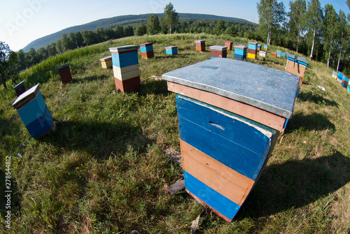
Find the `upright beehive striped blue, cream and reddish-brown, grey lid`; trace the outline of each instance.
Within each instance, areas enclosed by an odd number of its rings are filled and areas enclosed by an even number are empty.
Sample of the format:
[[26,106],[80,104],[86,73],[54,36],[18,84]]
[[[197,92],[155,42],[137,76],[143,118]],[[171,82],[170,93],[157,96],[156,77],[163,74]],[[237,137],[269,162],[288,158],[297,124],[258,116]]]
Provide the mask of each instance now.
[[113,75],[116,88],[125,92],[136,91],[141,87],[139,73],[139,45],[110,47],[112,54]]

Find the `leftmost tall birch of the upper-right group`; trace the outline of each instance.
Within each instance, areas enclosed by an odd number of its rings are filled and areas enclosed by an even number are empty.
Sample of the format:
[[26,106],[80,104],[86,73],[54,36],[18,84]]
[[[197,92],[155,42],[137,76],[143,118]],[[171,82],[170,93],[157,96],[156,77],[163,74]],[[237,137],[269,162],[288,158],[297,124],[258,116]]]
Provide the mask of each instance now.
[[286,19],[283,2],[278,3],[276,0],[260,0],[257,3],[259,14],[259,27],[261,31],[267,33],[267,45],[271,43],[271,35],[274,29]]

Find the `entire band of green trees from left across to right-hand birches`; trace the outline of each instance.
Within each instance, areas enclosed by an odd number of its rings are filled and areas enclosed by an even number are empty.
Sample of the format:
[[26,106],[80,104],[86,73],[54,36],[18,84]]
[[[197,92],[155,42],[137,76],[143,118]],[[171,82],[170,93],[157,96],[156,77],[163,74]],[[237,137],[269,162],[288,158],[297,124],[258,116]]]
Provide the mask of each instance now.
[[[347,1],[349,3],[350,0]],[[289,8],[288,11],[286,8]],[[259,24],[243,20],[179,18],[179,13],[172,6],[170,13],[174,13],[175,18],[170,28],[165,9],[162,17],[153,14],[148,20],[132,20],[116,27],[64,33],[59,40],[46,47],[38,50],[31,48],[29,52],[16,52],[17,62],[11,66],[8,75],[14,76],[48,57],[79,47],[127,36],[176,33],[227,34],[248,38],[251,41],[288,48],[304,54],[308,59],[324,62],[328,67],[348,74],[350,17],[342,10],[337,13],[332,4],[322,7],[318,0],[290,1],[289,6],[276,0],[260,0],[257,10]]]

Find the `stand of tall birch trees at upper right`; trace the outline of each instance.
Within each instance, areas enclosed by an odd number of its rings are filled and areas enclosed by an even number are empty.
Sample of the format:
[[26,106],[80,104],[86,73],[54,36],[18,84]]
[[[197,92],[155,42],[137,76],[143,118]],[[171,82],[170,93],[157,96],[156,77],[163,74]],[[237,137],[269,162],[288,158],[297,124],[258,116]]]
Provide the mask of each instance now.
[[[350,0],[346,3],[350,8]],[[350,15],[343,10],[337,13],[332,4],[323,8],[318,0],[290,1],[288,12],[276,0],[260,0],[257,8],[258,33],[267,44],[300,52],[337,71],[349,65]]]

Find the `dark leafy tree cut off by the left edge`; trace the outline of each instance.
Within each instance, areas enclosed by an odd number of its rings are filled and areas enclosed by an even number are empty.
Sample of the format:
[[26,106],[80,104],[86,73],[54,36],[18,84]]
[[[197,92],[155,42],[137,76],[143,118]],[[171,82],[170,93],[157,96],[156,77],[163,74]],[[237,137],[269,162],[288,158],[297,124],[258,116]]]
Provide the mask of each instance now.
[[5,42],[0,41],[0,80],[5,89],[7,89],[6,81],[16,63],[17,54],[10,50],[10,47]]

